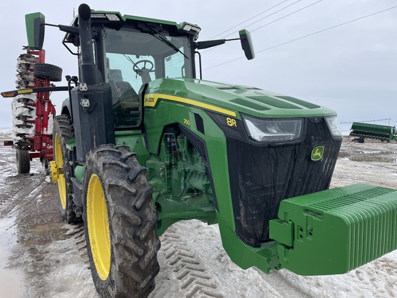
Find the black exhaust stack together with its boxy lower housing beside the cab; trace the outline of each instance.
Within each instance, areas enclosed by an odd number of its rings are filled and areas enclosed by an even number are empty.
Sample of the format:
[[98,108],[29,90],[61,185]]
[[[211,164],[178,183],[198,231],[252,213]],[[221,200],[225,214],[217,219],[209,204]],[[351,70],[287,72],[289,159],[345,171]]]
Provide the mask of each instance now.
[[[79,37],[81,47],[79,87],[70,91],[73,126],[76,139],[77,163],[83,164],[91,148],[114,140],[114,116],[112,87],[99,81],[98,68],[94,63],[92,45],[91,9],[87,4],[79,6]],[[101,59],[101,58],[99,58]],[[76,182],[77,183],[77,182]],[[74,187],[75,193],[81,193],[81,186]]]

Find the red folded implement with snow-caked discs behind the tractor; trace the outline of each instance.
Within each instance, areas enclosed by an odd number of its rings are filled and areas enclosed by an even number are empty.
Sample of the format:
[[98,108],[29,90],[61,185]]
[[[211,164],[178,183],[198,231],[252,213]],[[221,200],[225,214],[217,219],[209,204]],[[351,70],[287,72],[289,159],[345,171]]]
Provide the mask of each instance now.
[[47,169],[53,159],[52,124],[55,108],[50,100],[50,92],[41,89],[32,93],[32,88],[52,86],[50,81],[61,81],[62,70],[44,63],[45,50],[25,48],[26,53],[17,59],[17,88],[4,97],[12,100],[12,140],[4,141],[4,146],[17,150],[19,174],[30,171],[30,161],[39,158]]

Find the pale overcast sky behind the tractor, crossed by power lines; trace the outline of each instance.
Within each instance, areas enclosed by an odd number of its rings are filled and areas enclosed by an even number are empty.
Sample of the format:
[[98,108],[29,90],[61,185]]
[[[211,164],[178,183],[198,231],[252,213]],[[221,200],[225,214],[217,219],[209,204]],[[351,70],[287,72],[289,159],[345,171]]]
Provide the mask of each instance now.
[[[39,11],[46,23],[69,25],[80,3],[1,3],[6,13],[0,31],[0,91],[15,88],[17,57],[27,45],[24,15]],[[311,101],[336,110],[341,122],[391,118],[376,123],[397,124],[397,8],[387,10],[397,6],[396,0],[152,0],[150,6],[148,1],[86,3],[95,10],[196,23],[201,26],[201,41],[229,34],[227,38],[238,37],[237,31],[247,28],[252,32],[256,58],[238,59],[243,51],[236,41],[203,50],[203,79],[255,86]],[[374,14],[382,10],[387,11]],[[374,15],[365,17],[369,14]],[[365,18],[325,30],[361,17]],[[225,32],[230,28],[234,29]],[[320,30],[325,31],[305,37]],[[46,27],[45,35],[45,61],[63,68],[63,76],[77,75],[76,57],[61,44],[63,32]],[[305,38],[292,41],[300,37]],[[288,41],[292,42],[278,46]],[[63,80],[57,86],[65,84]],[[58,108],[65,97],[65,92],[52,94]],[[0,127],[11,127],[11,99],[0,100]],[[349,126],[344,124],[343,129]]]

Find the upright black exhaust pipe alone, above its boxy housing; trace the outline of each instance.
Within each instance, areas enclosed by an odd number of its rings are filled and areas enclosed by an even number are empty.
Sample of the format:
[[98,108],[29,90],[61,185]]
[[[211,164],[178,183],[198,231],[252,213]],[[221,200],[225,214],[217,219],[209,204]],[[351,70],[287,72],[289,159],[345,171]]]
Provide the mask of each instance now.
[[98,83],[98,72],[94,64],[92,49],[91,8],[87,4],[79,6],[79,32],[81,47],[81,81],[87,85]]

